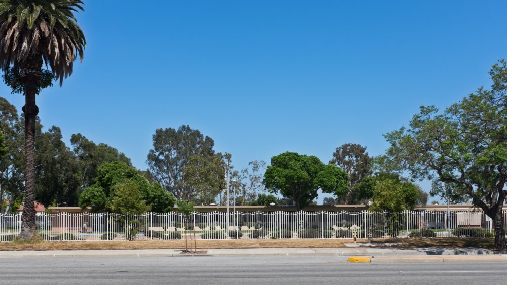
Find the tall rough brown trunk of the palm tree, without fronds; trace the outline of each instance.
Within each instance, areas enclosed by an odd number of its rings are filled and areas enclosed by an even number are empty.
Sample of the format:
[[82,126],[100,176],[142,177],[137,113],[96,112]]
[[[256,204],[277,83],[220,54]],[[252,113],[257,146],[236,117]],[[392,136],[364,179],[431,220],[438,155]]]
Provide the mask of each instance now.
[[31,54],[20,65],[20,77],[25,86],[25,203],[22,217],[20,240],[37,236],[35,224],[35,119],[39,108],[35,105],[35,94],[42,78],[42,56]]

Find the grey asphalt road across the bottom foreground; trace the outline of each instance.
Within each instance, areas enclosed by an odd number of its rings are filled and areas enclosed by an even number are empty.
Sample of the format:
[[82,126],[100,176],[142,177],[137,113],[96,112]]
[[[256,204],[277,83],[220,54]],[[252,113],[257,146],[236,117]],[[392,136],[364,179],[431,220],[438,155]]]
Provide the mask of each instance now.
[[0,284],[488,284],[505,263],[346,263],[341,256],[4,258]]

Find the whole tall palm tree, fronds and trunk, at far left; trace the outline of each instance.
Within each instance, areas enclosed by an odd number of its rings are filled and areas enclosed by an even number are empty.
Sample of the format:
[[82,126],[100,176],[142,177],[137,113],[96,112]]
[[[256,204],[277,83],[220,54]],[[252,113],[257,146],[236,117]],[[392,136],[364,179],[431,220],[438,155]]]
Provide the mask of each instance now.
[[[37,235],[35,226],[35,118],[39,108],[35,94],[44,83],[49,65],[52,77],[72,74],[77,55],[83,60],[86,40],[73,13],[83,11],[81,0],[0,0],[0,68],[14,74],[13,90],[25,95],[25,203],[20,240]],[[12,76],[11,76],[12,77]]]

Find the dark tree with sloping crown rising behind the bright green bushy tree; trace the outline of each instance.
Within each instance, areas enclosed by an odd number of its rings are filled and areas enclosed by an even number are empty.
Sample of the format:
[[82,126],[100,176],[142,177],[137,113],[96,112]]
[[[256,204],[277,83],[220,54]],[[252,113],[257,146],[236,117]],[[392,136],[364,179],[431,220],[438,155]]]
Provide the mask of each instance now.
[[94,183],[98,175],[98,169],[102,164],[123,162],[128,166],[132,166],[130,159],[116,148],[104,143],[97,145],[81,134],[73,134],[70,138],[70,143],[78,160],[82,187],[87,187]]

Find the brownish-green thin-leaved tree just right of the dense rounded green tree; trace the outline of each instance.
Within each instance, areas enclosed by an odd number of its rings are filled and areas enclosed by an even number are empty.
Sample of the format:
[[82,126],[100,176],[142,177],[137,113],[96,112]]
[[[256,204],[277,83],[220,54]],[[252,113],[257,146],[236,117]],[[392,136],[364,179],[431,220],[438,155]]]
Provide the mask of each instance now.
[[353,143],[337,147],[329,163],[340,167],[348,175],[347,193],[345,197],[340,197],[344,205],[359,203],[356,185],[364,177],[372,174],[372,157],[366,152],[366,147]]

